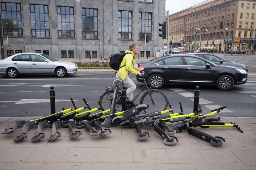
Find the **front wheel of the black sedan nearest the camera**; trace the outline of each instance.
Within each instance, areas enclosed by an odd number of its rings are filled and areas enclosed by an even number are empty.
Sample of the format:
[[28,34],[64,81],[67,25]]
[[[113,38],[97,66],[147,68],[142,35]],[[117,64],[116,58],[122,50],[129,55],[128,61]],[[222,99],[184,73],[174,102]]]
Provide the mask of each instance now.
[[218,89],[227,91],[233,87],[234,80],[230,75],[222,75],[217,79],[216,85]]

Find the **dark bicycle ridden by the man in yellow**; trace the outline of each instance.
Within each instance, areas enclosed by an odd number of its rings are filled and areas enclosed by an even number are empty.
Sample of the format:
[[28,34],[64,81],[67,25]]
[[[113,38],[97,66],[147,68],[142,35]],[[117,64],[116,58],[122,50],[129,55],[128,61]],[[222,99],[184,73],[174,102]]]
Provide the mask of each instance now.
[[[140,99],[140,104],[141,105],[142,104],[149,105],[149,107],[147,109],[145,109],[144,112],[152,113],[152,112],[155,112],[155,111],[164,111],[164,110],[166,110],[166,108],[168,106],[167,97],[161,91],[158,91],[156,89],[151,89],[149,83],[146,82],[144,76],[146,76],[146,74],[142,72],[143,83],[136,86],[136,88],[141,87],[141,89],[139,90],[137,95],[135,95],[133,100],[126,101],[127,106],[129,108],[134,107],[133,102],[138,98],[140,93],[142,91],[144,91],[144,94],[142,95],[142,97]],[[105,88],[106,92],[103,93],[102,95],[100,95],[100,102],[101,102],[101,105],[103,106],[103,108],[111,108],[112,101],[113,101],[113,96],[114,96],[114,89],[115,89],[117,84],[123,84],[122,82],[121,83],[120,82],[121,81],[118,80],[118,79],[115,80],[113,82],[114,87],[106,87]],[[121,87],[119,86],[117,99],[119,97],[121,97],[122,87],[123,87],[123,85],[121,85]],[[121,104],[116,104],[116,107],[122,107],[122,105]]]

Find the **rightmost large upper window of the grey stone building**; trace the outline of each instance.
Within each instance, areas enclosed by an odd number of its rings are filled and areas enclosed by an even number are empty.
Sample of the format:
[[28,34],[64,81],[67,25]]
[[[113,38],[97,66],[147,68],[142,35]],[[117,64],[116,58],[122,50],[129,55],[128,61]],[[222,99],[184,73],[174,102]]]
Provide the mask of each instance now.
[[145,34],[151,40],[151,25],[152,25],[151,13],[139,13],[139,39],[145,39]]

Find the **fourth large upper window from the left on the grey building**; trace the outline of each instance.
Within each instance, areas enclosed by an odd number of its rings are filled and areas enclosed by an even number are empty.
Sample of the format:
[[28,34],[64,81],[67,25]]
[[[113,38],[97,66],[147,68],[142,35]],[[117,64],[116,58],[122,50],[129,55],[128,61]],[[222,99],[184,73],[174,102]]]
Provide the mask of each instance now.
[[82,8],[82,29],[84,39],[98,39],[97,9]]

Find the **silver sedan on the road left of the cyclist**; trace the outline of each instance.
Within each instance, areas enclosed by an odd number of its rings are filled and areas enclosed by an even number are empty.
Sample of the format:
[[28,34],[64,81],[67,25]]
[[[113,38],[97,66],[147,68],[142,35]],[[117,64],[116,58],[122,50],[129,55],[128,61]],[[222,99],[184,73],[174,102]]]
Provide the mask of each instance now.
[[16,78],[20,74],[55,74],[65,77],[77,72],[77,64],[56,60],[43,53],[18,53],[0,60],[0,74]]

